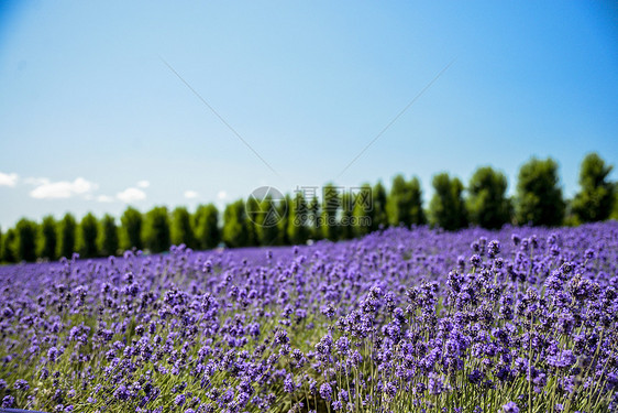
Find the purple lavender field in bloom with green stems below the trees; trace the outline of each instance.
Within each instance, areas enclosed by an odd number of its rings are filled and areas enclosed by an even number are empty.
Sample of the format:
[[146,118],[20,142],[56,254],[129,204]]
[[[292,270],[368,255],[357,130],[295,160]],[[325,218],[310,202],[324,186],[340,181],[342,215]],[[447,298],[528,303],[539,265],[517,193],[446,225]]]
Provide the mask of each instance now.
[[0,268],[0,399],[44,412],[609,412],[618,224]]

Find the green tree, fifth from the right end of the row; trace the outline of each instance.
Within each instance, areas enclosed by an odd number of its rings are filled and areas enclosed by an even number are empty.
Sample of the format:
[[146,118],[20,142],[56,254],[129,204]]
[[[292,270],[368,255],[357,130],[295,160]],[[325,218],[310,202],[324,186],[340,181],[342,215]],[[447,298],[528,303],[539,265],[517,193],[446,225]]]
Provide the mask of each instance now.
[[395,176],[386,200],[386,213],[391,226],[402,224],[409,227],[412,224],[426,224],[422,191],[416,176],[410,182],[406,182],[401,175]]

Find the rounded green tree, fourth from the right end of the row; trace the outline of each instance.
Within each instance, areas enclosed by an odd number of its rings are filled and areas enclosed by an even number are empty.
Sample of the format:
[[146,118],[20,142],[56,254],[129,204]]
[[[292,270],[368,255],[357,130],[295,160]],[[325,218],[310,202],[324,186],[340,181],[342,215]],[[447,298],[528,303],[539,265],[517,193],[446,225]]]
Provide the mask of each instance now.
[[453,231],[467,226],[466,210],[462,198],[463,184],[448,173],[433,176],[434,194],[429,205],[431,224]]

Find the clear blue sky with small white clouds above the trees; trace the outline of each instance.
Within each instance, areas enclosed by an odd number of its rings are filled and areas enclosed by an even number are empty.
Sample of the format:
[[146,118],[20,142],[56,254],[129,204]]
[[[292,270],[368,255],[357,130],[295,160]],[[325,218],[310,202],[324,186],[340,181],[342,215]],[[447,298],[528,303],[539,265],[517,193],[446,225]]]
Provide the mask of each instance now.
[[0,226],[397,173],[429,199],[487,164],[512,192],[532,155],[572,196],[587,152],[618,163],[610,4],[2,2]]

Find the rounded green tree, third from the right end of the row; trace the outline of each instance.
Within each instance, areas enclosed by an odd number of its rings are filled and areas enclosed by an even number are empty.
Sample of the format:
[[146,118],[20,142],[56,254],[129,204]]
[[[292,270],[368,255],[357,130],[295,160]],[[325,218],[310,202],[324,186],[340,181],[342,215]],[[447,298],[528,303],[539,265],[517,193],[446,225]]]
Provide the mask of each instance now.
[[483,228],[501,228],[510,220],[510,203],[506,197],[507,178],[492,166],[477,169],[470,180],[466,206],[472,224]]

